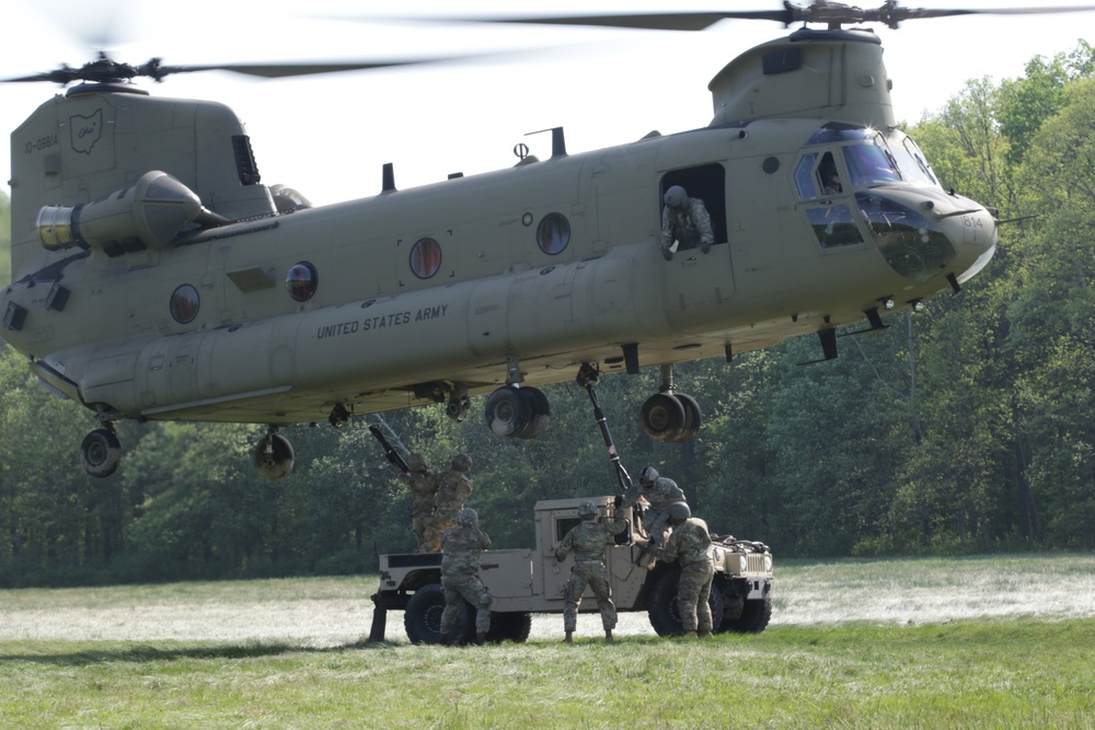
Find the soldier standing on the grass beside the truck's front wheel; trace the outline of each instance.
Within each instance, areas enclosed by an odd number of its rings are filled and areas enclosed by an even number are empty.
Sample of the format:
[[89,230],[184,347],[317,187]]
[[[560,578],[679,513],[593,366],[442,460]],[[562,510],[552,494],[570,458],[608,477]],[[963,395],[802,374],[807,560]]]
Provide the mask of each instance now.
[[673,532],[657,556],[662,560],[677,560],[681,565],[681,579],[677,586],[677,610],[680,612],[684,636],[711,636],[711,581],[715,576],[712,563],[711,534],[707,523],[692,517],[684,502],[669,508],[669,522]]

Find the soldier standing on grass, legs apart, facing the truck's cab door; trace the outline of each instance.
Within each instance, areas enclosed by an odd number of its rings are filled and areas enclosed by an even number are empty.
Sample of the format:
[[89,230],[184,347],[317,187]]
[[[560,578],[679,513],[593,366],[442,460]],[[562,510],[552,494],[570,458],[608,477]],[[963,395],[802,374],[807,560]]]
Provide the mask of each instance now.
[[597,506],[586,501],[578,505],[578,517],[581,522],[570,528],[563,542],[555,548],[555,559],[562,563],[574,552],[574,567],[570,578],[566,581],[566,605],[563,609],[564,641],[574,641],[574,629],[578,622],[578,606],[581,604],[581,593],[588,583],[593,589],[597,607],[601,612],[601,624],[604,626],[604,640],[612,640],[612,629],[615,628],[615,605],[609,598],[609,573],[604,567],[604,546],[613,542],[613,536],[627,529],[622,518],[621,506],[612,510],[612,519],[607,522],[597,520]]

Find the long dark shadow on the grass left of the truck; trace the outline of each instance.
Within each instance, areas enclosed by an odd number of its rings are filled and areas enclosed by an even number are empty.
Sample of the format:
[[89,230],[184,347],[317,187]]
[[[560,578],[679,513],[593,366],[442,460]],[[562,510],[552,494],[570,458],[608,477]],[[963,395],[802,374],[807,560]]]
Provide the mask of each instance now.
[[378,650],[393,645],[387,641],[355,641],[341,647],[302,647],[291,644],[230,644],[222,646],[194,646],[175,649],[160,649],[141,645],[118,649],[85,649],[66,653],[0,653],[0,663],[27,662],[32,664],[55,664],[57,667],[85,667],[111,662],[145,663],[152,661],[177,661],[181,659],[255,659],[288,653],[337,653],[347,650]]

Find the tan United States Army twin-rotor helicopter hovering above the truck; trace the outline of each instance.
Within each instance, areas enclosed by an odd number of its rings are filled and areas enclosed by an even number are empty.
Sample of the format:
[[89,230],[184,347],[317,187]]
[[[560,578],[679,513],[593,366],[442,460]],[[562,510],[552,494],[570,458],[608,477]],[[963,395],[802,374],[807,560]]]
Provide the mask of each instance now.
[[[710,83],[704,127],[313,207],[261,182],[227,106],[131,83],[182,71],[258,76],[383,66],[143,66],[103,56],[9,81],[80,82],[11,136],[12,283],[2,336],[95,413],[90,474],[122,457],[119,419],[254,422],[267,478],[293,452],[278,429],[489,394],[488,426],[533,438],[537,385],[661,369],[648,436],[693,438],[700,406],[676,362],[837,329],[958,290],[991,258],[994,211],[948,193],[894,118],[883,48],[858,23],[1022,11],[781,10],[488,19],[701,30],[761,19],[789,36]],[[1074,9],[1068,9],[1074,10]],[[825,24],[823,28],[810,24]],[[840,183],[834,181],[839,177]],[[670,188],[700,198],[712,237],[662,246]]]

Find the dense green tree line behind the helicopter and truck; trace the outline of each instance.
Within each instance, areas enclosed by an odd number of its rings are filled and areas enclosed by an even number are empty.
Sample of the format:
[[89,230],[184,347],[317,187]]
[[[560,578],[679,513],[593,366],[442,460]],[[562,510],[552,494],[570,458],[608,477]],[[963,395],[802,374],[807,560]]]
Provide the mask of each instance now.
[[[817,357],[797,338],[678,366],[704,408],[689,443],[638,428],[656,369],[602,379],[629,471],[656,466],[717,532],[781,557],[1095,548],[1093,72],[1081,43],[907,125],[944,187],[1001,220],[1037,216],[1001,225],[961,292],[842,338],[835,361],[797,367]],[[460,425],[429,407],[289,429],[297,465],[277,483],[251,466],[260,427],[126,421],[122,468],[94,479],[79,464],[90,413],[0,346],[0,586],[367,571],[414,546],[410,495],[369,425],[436,471],[469,453],[469,505],[497,546],[529,546],[538,499],[616,488],[585,390],[544,390],[552,425],[531,441],[492,436],[482,398]]]

